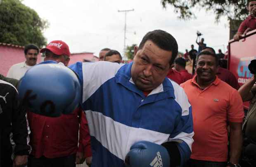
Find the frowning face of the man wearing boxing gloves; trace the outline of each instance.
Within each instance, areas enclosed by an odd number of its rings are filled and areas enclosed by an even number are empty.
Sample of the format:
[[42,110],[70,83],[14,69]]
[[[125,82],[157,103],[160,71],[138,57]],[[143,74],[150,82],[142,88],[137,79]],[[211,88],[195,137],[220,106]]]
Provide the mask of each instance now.
[[133,82],[142,91],[150,91],[158,87],[166,77],[172,52],[156,46],[147,40],[142,49],[134,48],[131,75]]

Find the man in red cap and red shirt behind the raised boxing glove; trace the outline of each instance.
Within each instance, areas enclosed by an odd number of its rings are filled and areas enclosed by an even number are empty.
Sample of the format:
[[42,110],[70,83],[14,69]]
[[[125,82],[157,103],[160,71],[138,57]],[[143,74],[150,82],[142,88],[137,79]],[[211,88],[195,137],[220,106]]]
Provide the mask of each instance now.
[[[69,64],[69,46],[61,40],[50,42],[40,52],[45,54],[45,61],[57,61],[65,66]],[[85,158],[91,159],[88,124],[81,108],[56,118],[28,112],[28,121],[32,146],[29,166],[75,167],[83,163]]]

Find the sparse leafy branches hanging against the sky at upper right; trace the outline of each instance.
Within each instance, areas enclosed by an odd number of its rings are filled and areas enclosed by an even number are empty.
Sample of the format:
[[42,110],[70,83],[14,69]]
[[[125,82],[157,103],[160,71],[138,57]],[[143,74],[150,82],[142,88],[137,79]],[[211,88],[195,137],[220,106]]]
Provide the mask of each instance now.
[[228,19],[244,20],[248,15],[247,11],[248,0],[161,0],[164,8],[167,5],[174,7],[174,12],[179,14],[180,19],[188,20],[195,18],[192,12],[194,8],[213,11],[216,15],[216,21],[220,17],[228,16]]

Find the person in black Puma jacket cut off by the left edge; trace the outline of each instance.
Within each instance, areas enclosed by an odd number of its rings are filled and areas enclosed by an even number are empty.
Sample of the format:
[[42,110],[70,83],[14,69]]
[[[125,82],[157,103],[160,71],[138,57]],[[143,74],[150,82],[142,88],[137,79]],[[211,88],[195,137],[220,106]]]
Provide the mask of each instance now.
[[17,89],[12,84],[0,80],[0,167],[26,165],[31,150],[28,146],[26,112],[19,107],[17,96]]

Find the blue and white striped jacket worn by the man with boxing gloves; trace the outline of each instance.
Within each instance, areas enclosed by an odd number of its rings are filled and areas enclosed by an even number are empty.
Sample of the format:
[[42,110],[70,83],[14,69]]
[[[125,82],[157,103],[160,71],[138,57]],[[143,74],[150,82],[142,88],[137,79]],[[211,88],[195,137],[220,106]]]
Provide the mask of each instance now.
[[81,104],[90,129],[93,167],[124,167],[130,146],[142,140],[181,141],[183,163],[190,157],[194,135],[187,95],[165,78],[146,97],[131,78],[132,64],[100,61],[70,66],[83,89]]

